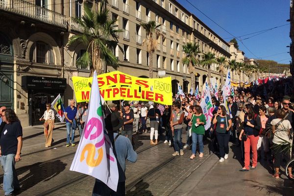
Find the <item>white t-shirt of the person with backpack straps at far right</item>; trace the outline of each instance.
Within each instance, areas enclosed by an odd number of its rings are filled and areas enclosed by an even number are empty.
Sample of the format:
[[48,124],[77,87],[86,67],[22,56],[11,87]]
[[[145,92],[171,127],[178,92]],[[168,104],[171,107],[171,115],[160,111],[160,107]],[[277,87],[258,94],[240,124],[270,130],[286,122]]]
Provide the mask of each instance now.
[[[270,122],[270,124],[271,125],[276,125],[280,121],[281,121],[281,119],[274,119],[274,120],[272,120]],[[290,142],[289,141],[289,135],[288,135],[289,132],[288,131],[291,128],[292,128],[291,123],[288,120],[284,120],[282,123],[280,123],[280,125],[275,128],[272,143],[274,143],[274,144],[285,143],[284,140],[286,140],[287,142]]]

